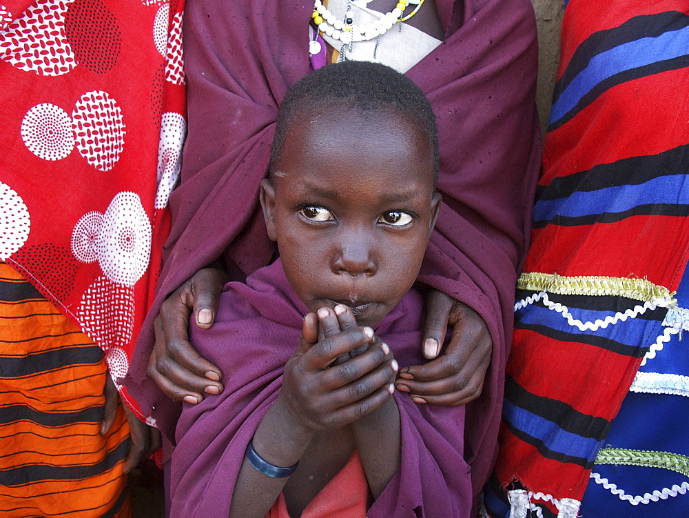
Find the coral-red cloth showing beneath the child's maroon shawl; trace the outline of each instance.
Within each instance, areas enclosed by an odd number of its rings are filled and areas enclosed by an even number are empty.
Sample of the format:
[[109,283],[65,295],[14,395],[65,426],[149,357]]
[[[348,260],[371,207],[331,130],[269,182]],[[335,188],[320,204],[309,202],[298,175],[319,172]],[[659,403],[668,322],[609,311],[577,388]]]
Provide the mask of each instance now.
[[[302,518],[364,518],[368,508],[369,483],[359,452],[354,450],[338,472],[302,512]],[[285,495],[278,496],[266,518],[290,518]]]

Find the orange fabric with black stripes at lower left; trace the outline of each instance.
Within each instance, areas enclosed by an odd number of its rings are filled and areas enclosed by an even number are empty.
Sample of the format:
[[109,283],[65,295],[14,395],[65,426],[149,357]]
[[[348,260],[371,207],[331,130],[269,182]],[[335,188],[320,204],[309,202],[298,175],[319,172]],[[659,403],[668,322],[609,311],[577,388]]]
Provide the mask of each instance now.
[[0,263],[0,516],[129,517],[129,425],[100,435],[103,352]]

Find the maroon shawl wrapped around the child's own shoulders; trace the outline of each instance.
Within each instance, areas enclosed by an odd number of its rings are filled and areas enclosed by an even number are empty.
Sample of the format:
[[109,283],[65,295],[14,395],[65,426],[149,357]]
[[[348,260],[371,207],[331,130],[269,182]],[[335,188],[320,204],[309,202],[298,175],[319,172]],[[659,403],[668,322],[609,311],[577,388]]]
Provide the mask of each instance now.
[[[418,346],[422,298],[411,291],[376,328],[400,366],[423,361]],[[185,404],[172,456],[172,517],[227,517],[249,440],[282,386],[296,350],[306,306],[291,290],[282,263],[229,283],[209,330],[192,328],[201,355],[225,372],[225,390]],[[464,407],[417,405],[396,394],[400,409],[400,470],[367,515],[468,517],[471,477],[464,461]],[[384,440],[384,437],[381,438]],[[422,512],[415,515],[414,510]]]

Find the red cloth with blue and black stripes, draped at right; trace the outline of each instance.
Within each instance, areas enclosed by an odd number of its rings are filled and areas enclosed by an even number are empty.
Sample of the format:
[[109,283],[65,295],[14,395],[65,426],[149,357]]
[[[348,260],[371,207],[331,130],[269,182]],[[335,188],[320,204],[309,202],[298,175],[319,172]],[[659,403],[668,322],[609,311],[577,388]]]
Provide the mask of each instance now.
[[491,515],[577,516],[641,362],[681,331],[688,85],[686,0],[568,3]]

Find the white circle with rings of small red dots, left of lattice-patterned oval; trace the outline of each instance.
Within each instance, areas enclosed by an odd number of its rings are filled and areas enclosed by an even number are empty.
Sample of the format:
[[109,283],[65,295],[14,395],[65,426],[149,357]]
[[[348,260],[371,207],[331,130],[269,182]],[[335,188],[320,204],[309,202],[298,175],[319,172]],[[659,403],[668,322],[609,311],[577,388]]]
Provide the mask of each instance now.
[[37,104],[26,112],[20,133],[28,150],[44,160],[61,160],[74,149],[72,119],[54,104]]

